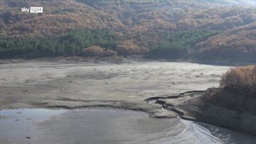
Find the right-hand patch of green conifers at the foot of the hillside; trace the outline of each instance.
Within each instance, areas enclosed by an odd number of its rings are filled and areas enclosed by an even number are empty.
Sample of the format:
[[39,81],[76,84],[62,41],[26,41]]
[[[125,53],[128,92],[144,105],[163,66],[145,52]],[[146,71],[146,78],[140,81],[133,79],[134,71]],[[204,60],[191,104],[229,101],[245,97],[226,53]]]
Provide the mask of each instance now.
[[209,29],[194,29],[177,32],[152,33],[157,35],[159,40],[157,45],[150,51],[150,57],[180,57],[190,51],[196,51],[195,46],[200,41],[207,40],[208,37],[217,35],[219,31]]

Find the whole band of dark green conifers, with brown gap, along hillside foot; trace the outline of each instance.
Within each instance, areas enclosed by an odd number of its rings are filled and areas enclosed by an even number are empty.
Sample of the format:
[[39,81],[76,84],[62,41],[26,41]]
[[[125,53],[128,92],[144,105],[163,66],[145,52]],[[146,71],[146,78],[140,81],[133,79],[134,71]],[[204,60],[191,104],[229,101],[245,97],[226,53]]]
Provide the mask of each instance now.
[[[188,54],[195,49],[194,45],[201,40],[216,35],[218,32],[206,29],[148,32],[141,37],[118,36],[110,30],[76,30],[61,36],[1,36],[0,56],[6,57],[49,57],[57,55],[79,55],[82,49],[99,46],[104,49],[116,51],[119,55],[134,54],[148,57],[173,58]],[[144,37],[156,43],[143,46]],[[92,47],[96,48],[96,47]],[[88,55],[88,54],[85,54]],[[90,54],[89,54],[90,55]]]

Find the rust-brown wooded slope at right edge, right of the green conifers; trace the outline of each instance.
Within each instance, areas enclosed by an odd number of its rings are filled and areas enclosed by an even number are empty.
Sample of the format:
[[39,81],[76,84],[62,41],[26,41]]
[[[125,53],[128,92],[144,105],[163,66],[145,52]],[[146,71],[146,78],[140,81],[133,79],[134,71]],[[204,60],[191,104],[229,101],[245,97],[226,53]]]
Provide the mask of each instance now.
[[210,37],[196,47],[201,55],[228,56],[228,57],[254,57],[256,54],[256,23],[239,26]]

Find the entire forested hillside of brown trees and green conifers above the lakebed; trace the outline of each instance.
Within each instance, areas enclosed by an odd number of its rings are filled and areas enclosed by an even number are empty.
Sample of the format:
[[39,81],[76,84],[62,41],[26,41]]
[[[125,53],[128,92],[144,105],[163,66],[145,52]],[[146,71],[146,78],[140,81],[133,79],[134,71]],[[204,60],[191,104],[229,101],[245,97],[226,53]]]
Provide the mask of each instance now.
[[[0,57],[92,57],[87,48],[100,46],[119,56],[251,59],[255,5],[254,0],[3,0]],[[43,13],[21,12],[32,6],[43,7]]]

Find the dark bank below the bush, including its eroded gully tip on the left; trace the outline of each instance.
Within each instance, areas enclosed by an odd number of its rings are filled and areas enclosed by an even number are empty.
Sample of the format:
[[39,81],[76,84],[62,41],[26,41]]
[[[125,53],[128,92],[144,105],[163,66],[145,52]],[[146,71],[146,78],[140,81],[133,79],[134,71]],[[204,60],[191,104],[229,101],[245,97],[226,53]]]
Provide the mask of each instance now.
[[[188,91],[177,96],[146,99],[186,120],[210,123],[238,132],[256,134],[256,99],[221,88]],[[165,118],[164,115],[160,118]]]

